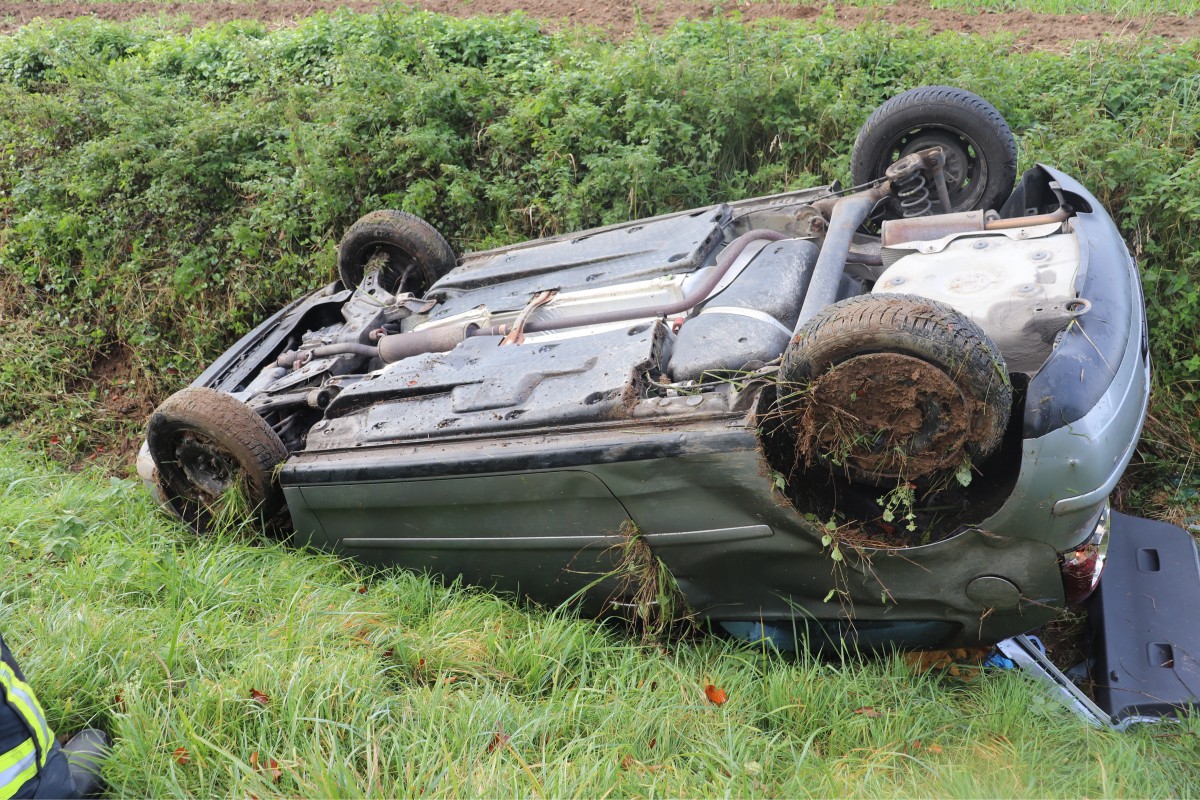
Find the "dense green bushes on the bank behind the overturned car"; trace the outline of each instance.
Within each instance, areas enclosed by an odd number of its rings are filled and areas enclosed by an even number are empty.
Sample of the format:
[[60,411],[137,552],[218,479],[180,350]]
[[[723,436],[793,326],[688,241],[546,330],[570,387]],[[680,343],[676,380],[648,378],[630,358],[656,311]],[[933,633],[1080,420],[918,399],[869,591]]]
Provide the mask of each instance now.
[[1145,270],[1156,409],[1195,432],[1200,47],[1009,43],[719,17],[614,44],[407,10],[26,26],[0,38],[0,313],[20,320],[0,419],[76,449],[128,432],[116,367],[146,403],[178,389],[329,281],[366,211],[462,251],[845,180],[871,108],[949,83],[1006,114],[1022,167],[1112,211]]

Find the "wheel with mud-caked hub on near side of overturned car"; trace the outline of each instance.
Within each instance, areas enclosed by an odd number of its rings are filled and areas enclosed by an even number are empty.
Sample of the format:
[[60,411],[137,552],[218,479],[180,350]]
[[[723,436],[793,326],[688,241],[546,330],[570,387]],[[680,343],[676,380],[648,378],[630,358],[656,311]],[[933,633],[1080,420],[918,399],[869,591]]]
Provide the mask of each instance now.
[[970,318],[916,295],[824,308],[788,344],[780,408],[805,463],[876,486],[931,486],[1000,445],[1013,402],[995,343]]

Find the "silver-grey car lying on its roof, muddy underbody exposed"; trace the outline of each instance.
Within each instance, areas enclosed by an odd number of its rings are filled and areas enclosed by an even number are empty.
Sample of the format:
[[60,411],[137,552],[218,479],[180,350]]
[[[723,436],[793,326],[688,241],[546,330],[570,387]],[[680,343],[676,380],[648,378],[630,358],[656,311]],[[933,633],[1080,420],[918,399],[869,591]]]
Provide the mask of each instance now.
[[852,169],[462,257],[368,213],[338,281],[154,413],[139,473],[198,530],[235,495],[541,603],[658,602],[637,553],[750,638],[1030,631],[1100,575],[1150,389],[1138,270],[970,92],[889,100]]

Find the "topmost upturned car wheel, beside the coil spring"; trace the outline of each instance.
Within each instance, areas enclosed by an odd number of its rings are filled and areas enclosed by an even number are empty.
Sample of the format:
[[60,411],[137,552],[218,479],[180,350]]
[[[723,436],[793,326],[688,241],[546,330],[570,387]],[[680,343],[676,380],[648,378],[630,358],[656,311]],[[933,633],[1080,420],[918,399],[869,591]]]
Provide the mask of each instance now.
[[[950,211],[998,209],[1016,181],[1016,142],[996,108],[970,91],[952,86],[910,89],[872,113],[854,139],[854,185],[883,178],[893,163],[925,148],[946,151],[946,187]],[[934,213],[941,201],[929,186]],[[900,216],[893,204],[890,216]]]

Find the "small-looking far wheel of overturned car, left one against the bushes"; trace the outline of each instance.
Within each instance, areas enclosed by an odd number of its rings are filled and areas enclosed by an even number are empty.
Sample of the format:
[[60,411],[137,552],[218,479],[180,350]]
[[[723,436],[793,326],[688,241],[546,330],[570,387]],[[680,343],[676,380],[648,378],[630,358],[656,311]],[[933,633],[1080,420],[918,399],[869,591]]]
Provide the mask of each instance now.
[[378,253],[388,257],[380,283],[392,294],[421,295],[457,261],[450,243],[425,219],[407,211],[372,211],[350,225],[337,246],[342,285],[359,285],[367,263]]

